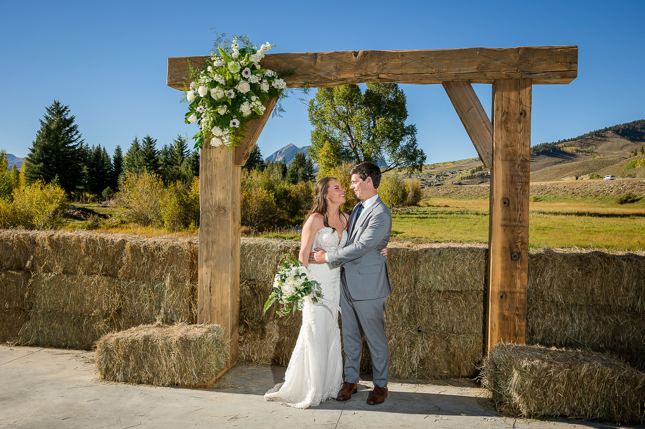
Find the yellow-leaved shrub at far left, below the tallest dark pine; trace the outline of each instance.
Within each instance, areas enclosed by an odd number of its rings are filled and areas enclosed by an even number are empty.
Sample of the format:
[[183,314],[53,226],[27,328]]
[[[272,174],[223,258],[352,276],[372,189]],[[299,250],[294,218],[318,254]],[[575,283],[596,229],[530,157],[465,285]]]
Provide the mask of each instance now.
[[61,187],[39,181],[16,188],[13,197],[0,198],[1,227],[54,229],[63,224],[67,197]]

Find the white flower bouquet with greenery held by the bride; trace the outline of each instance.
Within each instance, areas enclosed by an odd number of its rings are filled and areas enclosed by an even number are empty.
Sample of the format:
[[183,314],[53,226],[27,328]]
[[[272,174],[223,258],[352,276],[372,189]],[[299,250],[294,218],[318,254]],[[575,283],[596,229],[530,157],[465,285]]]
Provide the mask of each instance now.
[[292,310],[290,305],[297,310],[303,309],[305,296],[310,296],[314,303],[318,302],[318,298],[323,298],[320,283],[310,280],[309,275],[309,270],[299,260],[285,255],[278,265],[278,272],[273,279],[273,291],[264,303],[263,314],[276,300],[282,305],[282,309],[276,310],[276,313],[287,316]]

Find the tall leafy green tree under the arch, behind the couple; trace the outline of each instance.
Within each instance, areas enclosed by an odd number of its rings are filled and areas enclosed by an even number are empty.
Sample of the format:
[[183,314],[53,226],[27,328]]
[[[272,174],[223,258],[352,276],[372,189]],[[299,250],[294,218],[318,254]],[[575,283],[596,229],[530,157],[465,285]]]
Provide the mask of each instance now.
[[319,88],[309,101],[309,154],[321,164],[321,149],[330,142],[344,160],[377,162],[383,172],[421,171],[426,155],[417,146],[417,127],[406,125],[407,119],[406,97],[397,84],[370,82],[364,93],[357,84]]

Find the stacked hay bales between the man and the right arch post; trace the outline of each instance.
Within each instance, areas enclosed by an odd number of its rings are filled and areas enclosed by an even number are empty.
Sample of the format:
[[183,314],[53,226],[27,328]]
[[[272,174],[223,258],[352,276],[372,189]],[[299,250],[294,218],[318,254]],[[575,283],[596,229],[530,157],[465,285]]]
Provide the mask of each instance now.
[[[390,375],[471,377],[483,351],[486,247],[392,247],[385,327]],[[364,347],[362,370],[371,371]]]

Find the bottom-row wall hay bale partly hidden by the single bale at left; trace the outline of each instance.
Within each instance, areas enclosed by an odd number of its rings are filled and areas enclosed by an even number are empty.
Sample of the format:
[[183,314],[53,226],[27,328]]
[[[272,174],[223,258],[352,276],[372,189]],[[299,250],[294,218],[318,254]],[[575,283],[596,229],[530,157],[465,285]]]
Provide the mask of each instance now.
[[20,332],[18,343],[91,350],[97,339],[114,330],[127,328],[128,321],[118,316],[89,316],[65,312],[32,310]]

